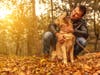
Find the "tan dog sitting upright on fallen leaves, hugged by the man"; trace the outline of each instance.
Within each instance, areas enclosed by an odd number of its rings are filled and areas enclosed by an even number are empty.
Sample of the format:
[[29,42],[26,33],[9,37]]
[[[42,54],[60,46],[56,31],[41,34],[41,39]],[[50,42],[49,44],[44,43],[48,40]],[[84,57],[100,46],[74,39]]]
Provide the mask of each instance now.
[[[61,36],[64,38],[64,42],[61,43],[59,38],[56,44],[56,50],[52,51],[52,59],[57,57],[58,59],[62,59],[63,63],[67,64],[68,60],[74,62],[74,42],[75,36],[73,35],[73,26],[71,20],[68,18],[64,18],[59,21],[60,23],[60,32]],[[68,32],[69,30],[69,32]]]

